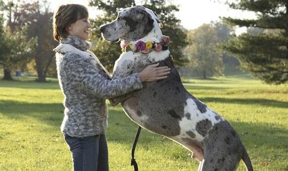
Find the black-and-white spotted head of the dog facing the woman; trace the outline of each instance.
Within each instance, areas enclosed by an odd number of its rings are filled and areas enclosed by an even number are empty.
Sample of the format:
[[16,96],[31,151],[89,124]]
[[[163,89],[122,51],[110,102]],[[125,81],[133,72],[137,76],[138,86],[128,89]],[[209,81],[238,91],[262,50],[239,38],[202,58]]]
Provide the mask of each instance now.
[[102,25],[100,30],[108,42],[136,41],[152,31],[154,22],[162,24],[156,13],[138,5],[121,10],[116,20]]

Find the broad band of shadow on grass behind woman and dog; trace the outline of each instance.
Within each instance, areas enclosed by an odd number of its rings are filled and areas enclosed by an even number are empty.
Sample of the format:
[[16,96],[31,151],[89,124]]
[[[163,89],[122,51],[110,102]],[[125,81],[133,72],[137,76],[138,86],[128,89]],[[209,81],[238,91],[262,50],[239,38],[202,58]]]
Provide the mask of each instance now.
[[[0,100],[2,115],[23,122],[27,122],[25,121],[27,117],[32,117],[55,128],[60,128],[63,108],[61,103],[41,104]],[[107,140],[132,146],[138,125],[131,121],[123,111],[117,110],[119,108],[120,106],[109,109]],[[271,149],[288,149],[288,129],[267,123],[230,122],[230,124],[238,132],[247,149],[254,148],[255,145],[257,148],[263,146]],[[165,140],[161,136],[144,130],[140,135],[139,145],[157,145],[163,141]]]

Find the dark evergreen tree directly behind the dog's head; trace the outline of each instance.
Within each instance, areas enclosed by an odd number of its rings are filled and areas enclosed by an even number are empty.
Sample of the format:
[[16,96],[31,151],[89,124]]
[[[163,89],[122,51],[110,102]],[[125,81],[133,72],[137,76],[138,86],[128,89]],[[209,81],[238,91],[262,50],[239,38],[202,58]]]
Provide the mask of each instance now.
[[[134,0],[89,0],[89,4],[103,10],[103,16],[97,16],[95,20],[91,20],[92,35],[91,40],[94,44],[92,51],[100,58],[103,65],[112,71],[115,61],[120,56],[121,48],[119,43],[108,43],[101,37],[100,25],[110,22],[117,17],[117,12],[120,9],[135,6]],[[145,0],[144,6],[155,11],[160,20],[164,23],[162,29],[163,34],[170,37],[171,43],[169,50],[175,55],[173,60],[175,64],[181,65],[185,63],[182,48],[186,45],[185,33],[180,27],[180,20],[176,19],[174,12],[178,11],[175,5],[166,5],[166,0]],[[176,56],[177,55],[177,56]]]

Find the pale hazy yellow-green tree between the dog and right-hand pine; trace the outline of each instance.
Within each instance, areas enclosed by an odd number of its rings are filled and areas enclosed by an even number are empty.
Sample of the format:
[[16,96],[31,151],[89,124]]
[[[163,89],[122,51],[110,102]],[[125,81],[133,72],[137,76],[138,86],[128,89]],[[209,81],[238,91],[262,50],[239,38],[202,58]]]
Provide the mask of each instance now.
[[217,47],[219,42],[215,28],[209,24],[203,24],[197,29],[188,32],[189,45],[185,53],[190,61],[190,67],[207,78],[223,74],[222,51]]

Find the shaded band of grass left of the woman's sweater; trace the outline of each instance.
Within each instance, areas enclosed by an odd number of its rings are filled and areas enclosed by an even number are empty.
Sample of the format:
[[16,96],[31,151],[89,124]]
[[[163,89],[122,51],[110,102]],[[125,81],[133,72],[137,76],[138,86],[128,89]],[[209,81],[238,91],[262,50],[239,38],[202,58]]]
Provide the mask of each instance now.
[[62,103],[42,104],[0,100],[0,113],[2,115],[16,120],[32,117],[51,126],[60,126],[63,110]]

